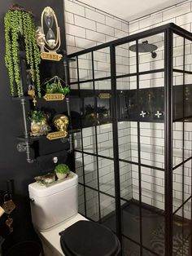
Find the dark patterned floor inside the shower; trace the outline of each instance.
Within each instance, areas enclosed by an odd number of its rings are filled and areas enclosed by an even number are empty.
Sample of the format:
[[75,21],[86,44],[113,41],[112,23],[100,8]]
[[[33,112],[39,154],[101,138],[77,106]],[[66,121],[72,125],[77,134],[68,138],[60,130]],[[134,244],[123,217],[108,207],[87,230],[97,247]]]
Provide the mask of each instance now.
[[[103,224],[115,231],[115,215],[103,220]],[[140,214],[137,203],[131,202],[122,209],[123,255],[139,256],[140,246],[126,237],[139,243]],[[173,251],[174,256],[191,256],[190,251],[190,222],[181,218],[173,220]],[[142,249],[143,256],[164,256],[164,214],[152,207],[142,208]],[[149,250],[148,250],[149,249]]]

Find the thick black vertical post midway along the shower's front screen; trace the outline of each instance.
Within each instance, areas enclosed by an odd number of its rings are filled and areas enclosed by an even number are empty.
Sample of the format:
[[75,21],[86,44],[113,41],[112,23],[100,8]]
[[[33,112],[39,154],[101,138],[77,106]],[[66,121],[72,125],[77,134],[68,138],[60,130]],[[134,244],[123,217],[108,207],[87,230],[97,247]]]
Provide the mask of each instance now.
[[111,116],[112,116],[112,136],[113,136],[113,156],[114,156],[114,177],[116,194],[116,234],[121,238],[121,209],[120,209],[120,163],[119,163],[119,141],[117,126],[117,107],[116,107],[116,47],[110,46],[111,62]]

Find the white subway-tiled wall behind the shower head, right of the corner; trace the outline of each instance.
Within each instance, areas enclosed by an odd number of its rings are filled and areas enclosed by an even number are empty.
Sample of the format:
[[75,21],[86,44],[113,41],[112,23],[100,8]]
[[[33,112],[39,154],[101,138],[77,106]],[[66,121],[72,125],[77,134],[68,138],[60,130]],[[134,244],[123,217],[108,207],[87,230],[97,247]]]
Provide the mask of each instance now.
[[[192,2],[186,1],[178,4],[177,6],[170,7],[164,11],[158,11],[154,14],[148,15],[144,18],[133,20],[129,23],[129,34],[142,32],[146,29],[152,29],[159,25],[167,23],[175,23],[192,32]],[[159,38],[159,40],[158,40]],[[161,41],[164,40],[162,35],[157,37],[147,38],[149,42],[155,43],[159,46]],[[154,40],[155,39],[155,40]],[[158,45],[159,44],[159,45]],[[185,70],[192,71],[192,45],[191,42],[185,42]],[[173,39],[173,67],[182,68],[183,65],[183,38],[174,35]],[[155,68],[163,68],[164,61],[164,49],[158,48],[157,57],[155,62],[151,62],[151,54],[141,54],[139,57],[140,71]],[[130,70],[135,68],[134,54],[130,52],[129,64]],[[192,76],[185,75],[185,84],[191,84]],[[173,86],[182,84],[182,76],[179,73],[173,73]],[[134,88],[134,81],[130,82],[131,89]],[[140,81],[142,88],[164,86],[163,73],[158,74],[158,77],[143,77]],[[136,124],[131,125],[131,129],[134,130]],[[141,123],[141,158],[142,163],[146,163],[151,166],[159,166],[164,168],[164,126],[160,123]],[[182,132],[184,130],[184,145],[182,145]],[[182,148],[184,147],[184,159],[191,156],[191,136],[192,136],[192,124],[186,122],[183,127],[180,122],[177,122],[173,126],[173,166],[177,166],[182,161]],[[131,138],[134,137],[131,135]],[[132,141],[137,143],[137,141]],[[137,161],[137,152],[134,145],[131,145],[131,156],[133,160]],[[135,159],[136,156],[136,159]],[[184,200],[186,200],[191,193],[191,161],[188,161],[184,165],[178,167],[173,171],[173,211],[181,205],[182,200],[182,171],[184,171]],[[137,168],[132,166],[133,175],[133,198],[138,199],[138,184],[137,184]],[[148,205],[154,205],[160,209],[164,209],[164,173],[159,170],[149,170],[142,167],[142,201]],[[190,217],[191,201],[185,204],[184,216]],[[182,214],[182,211],[178,211],[177,214]]]

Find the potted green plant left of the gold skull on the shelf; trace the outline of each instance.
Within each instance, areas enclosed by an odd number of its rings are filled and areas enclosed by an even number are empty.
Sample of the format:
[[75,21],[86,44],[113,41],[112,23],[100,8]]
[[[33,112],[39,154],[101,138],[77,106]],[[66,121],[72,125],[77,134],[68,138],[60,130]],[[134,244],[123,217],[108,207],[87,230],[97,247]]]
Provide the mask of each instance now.
[[46,135],[50,130],[44,111],[31,110],[28,113],[28,121],[31,121],[31,136]]

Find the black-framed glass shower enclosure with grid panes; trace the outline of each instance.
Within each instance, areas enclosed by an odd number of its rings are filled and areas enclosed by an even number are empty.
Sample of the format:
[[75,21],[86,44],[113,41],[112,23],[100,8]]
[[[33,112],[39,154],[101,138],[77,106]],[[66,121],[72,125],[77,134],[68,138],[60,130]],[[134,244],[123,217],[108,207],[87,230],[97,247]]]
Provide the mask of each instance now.
[[123,255],[192,255],[191,41],[165,24],[68,55],[79,211]]

